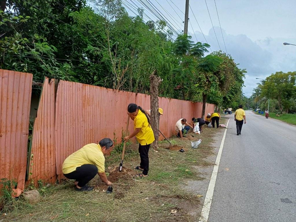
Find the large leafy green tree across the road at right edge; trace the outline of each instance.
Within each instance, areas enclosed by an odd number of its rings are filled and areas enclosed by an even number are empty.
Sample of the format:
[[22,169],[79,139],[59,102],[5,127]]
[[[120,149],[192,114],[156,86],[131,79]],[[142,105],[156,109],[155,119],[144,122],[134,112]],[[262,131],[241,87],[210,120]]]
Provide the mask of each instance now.
[[289,112],[290,108],[295,105],[296,71],[273,73],[266,78],[260,88],[262,90],[260,96],[276,99],[280,112],[282,113],[283,109]]

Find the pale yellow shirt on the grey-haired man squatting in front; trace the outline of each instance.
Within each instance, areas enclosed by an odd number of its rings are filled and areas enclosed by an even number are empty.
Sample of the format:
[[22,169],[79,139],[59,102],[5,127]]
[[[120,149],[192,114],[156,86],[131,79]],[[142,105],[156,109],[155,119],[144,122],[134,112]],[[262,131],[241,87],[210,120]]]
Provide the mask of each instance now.
[[84,164],[92,164],[98,168],[98,172],[105,172],[105,157],[99,144],[86,144],[81,149],[72,153],[63,163],[64,174],[71,173]]

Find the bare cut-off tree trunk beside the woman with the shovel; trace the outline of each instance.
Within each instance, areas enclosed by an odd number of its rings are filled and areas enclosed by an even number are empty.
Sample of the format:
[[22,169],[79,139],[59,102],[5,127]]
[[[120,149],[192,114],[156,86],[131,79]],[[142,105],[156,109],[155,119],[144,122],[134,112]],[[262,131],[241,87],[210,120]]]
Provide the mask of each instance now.
[[158,148],[158,135],[159,135],[159,115],[158,115],[158,86],[161,83],[161,78],[156,76],[156,70],[150,76],[150,109],[151,117],[150,123],[154,132],[155,141],[152,143],[152,148]]

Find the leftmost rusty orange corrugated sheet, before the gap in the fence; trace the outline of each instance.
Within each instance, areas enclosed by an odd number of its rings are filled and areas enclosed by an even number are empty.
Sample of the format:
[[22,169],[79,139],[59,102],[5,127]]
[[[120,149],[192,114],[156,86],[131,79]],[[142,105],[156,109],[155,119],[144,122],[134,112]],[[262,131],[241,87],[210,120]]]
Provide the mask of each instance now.
[[0,178],[17,181],[17,194],[25,186],[32,77],[0,70]]

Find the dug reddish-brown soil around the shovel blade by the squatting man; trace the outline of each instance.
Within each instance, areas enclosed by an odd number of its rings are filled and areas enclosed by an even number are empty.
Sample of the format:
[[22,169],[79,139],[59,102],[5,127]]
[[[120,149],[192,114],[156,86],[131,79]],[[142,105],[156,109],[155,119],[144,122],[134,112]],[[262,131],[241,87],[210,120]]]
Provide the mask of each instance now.
[[[129,169],[129,168],[122,168],[122,171],[119,172],[119,167],[116,166],[112,166],[112,167],[108,167],[109,172],[107,172],[107,175],[109,173],[109,175],[107,176],[108,180],[111,181],[113,188],[118,186],[118,184],[116,184],[119,180],[122,180],[122,183],[131,183],[132,181],[132,176],[136,175],[137,171]],[[95,176],[94,179],[92,179],[89,182],[90,186],[94,186],[95,189],[97,190],[107,190],[108,186],[103,183],[100,179],[99,176]],[[125,186],[125,184],[119,184],[120,186]]]

